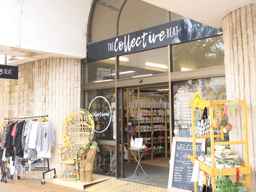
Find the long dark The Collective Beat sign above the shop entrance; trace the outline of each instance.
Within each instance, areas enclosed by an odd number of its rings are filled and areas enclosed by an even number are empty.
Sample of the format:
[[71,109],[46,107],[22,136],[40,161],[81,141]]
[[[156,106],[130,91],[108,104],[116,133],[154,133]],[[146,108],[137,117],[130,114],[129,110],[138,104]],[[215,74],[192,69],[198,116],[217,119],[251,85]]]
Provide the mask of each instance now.
[[87,45],[87,61],[130,54],[217,35],[217,29],[185,18]]

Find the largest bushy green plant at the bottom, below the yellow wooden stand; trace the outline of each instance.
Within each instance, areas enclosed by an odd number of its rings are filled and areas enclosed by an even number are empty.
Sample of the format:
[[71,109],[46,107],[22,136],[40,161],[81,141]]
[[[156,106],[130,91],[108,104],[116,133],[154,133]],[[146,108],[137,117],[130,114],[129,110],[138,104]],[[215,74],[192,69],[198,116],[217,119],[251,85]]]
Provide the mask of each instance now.
[[230,178],[222,176],[221,179],[214,181],[214,184],[218,187],[213,192],[236,192],[235,185],[232,183]]

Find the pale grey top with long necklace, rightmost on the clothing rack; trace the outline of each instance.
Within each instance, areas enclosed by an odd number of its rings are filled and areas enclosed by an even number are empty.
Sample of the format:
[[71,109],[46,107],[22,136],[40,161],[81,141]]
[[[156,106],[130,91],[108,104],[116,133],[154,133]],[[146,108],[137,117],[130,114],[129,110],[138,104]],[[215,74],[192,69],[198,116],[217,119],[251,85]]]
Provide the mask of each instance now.
[[49,124],[39,123],[37,125],[37,138],[36,138],[36,150],[37,150],[37,158],[51,158],[51,145],[54,142],[54,131],[53,124],[49,122]]

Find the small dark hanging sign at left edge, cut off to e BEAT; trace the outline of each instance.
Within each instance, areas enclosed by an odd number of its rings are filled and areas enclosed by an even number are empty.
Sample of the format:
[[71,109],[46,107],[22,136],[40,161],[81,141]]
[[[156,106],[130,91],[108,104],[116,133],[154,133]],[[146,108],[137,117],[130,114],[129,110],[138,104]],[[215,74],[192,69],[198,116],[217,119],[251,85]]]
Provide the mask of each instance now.
[[0,65],[0,79],[18,80],[18,66]]

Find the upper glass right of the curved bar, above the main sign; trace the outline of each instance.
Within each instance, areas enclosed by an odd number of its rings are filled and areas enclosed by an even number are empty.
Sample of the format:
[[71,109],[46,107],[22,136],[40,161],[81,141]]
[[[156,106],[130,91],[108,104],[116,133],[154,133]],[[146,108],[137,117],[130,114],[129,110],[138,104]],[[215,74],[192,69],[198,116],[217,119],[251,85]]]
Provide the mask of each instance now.
[[[171,21],[182,19],[183,16],[171,13]],[[168,23],[168,11],[145,1],[127,0],[119,19],[119,34],[147,29]]]

